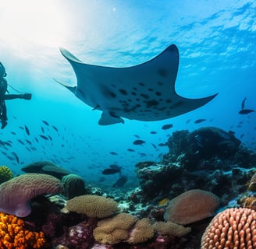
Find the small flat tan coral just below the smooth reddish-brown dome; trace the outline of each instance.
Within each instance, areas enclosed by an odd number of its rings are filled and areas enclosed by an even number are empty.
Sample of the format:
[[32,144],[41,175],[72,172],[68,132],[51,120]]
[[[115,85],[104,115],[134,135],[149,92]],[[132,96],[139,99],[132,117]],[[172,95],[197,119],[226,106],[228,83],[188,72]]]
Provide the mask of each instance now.
[[190,227],[185,227],[176,223],[172,223],[170,221],[168,222],[158,221],[157,223],[153,224],[153,227],[158,234],[168,235],[169,237],[172,237],[172,236],[182,237],[187,233],[190,233],[191,231]]

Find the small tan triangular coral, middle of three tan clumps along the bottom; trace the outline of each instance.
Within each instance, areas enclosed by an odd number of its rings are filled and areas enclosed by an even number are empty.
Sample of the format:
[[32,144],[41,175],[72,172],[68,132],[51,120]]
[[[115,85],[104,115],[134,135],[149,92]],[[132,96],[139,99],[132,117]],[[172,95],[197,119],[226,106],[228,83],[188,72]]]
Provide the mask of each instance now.
[[130,244],[137,244],[148,241],[154,236],[155,230],[151,226],[150,219],[139,219],[133,229],[130,231],[129,239],[126,240]]

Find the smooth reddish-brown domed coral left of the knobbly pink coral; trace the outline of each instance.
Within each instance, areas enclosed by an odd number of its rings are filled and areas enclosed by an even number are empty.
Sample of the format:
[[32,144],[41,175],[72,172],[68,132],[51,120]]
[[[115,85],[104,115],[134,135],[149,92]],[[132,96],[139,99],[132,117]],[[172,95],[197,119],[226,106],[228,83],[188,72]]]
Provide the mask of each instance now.
[[219,206],[219,197],[209,191],[192,189],[169,201],[164,218],[172,223],[187,225],[212,216]]

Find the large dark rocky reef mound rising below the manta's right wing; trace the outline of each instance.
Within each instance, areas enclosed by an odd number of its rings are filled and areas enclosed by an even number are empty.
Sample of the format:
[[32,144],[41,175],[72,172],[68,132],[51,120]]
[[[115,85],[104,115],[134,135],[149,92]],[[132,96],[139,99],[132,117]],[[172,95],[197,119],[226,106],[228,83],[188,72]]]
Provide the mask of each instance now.
[[[244,148],[233,133],[219,128],[173,132],[169,153],[158,163],[137,163],[144,199],[174,198],[200,188],[229,202],[246,190],[256,154]],[[144,167],[142,167],[144,165]]]

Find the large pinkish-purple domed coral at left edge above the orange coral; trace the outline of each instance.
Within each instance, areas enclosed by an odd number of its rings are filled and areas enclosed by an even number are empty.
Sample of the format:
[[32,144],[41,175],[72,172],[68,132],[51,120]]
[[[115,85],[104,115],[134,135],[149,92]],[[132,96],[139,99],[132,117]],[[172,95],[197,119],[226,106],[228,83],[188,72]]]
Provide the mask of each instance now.
[[61,191],[61,182],[55,177],[48,174],[23,174],[0,184],[0,211],[25,217],[31,212],[32,198]]

